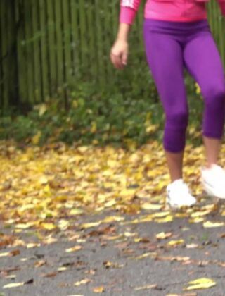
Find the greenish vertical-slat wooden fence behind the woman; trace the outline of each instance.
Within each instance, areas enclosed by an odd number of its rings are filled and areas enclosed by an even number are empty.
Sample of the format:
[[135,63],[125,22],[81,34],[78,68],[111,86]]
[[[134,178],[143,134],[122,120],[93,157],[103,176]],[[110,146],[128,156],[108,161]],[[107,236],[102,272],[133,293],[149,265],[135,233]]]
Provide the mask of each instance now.
[[[117,33],[119,2],[1,0],[1,110],[55,96],[66,100],[80,80],[110,83],[115,70],[108,56]],[[216,0],[207,7],[224,62],[224,20]],[[143,4],[131,32],[141,51],[142,19]]]

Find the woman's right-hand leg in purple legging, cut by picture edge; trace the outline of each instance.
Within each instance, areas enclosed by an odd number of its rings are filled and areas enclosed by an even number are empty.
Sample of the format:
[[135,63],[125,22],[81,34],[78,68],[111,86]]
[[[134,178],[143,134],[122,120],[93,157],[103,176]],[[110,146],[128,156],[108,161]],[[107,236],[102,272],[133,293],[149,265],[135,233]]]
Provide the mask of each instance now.
[[218,161],[225,119],[224,70],[210,32],[202,32],[187,42],[184,61],[187,70],[198,82],[205,101],[203,141],[206,166],[210,168]]

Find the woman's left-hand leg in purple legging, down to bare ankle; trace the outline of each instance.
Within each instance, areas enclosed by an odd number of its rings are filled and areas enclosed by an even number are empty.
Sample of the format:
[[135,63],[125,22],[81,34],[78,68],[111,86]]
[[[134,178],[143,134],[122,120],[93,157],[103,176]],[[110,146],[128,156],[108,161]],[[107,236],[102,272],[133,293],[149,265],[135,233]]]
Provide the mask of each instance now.
[[165,111],[163,144],[171,180],[182,178],[183,154],[188,125],[181,45],[169,35],[144,28],[146,56]]

